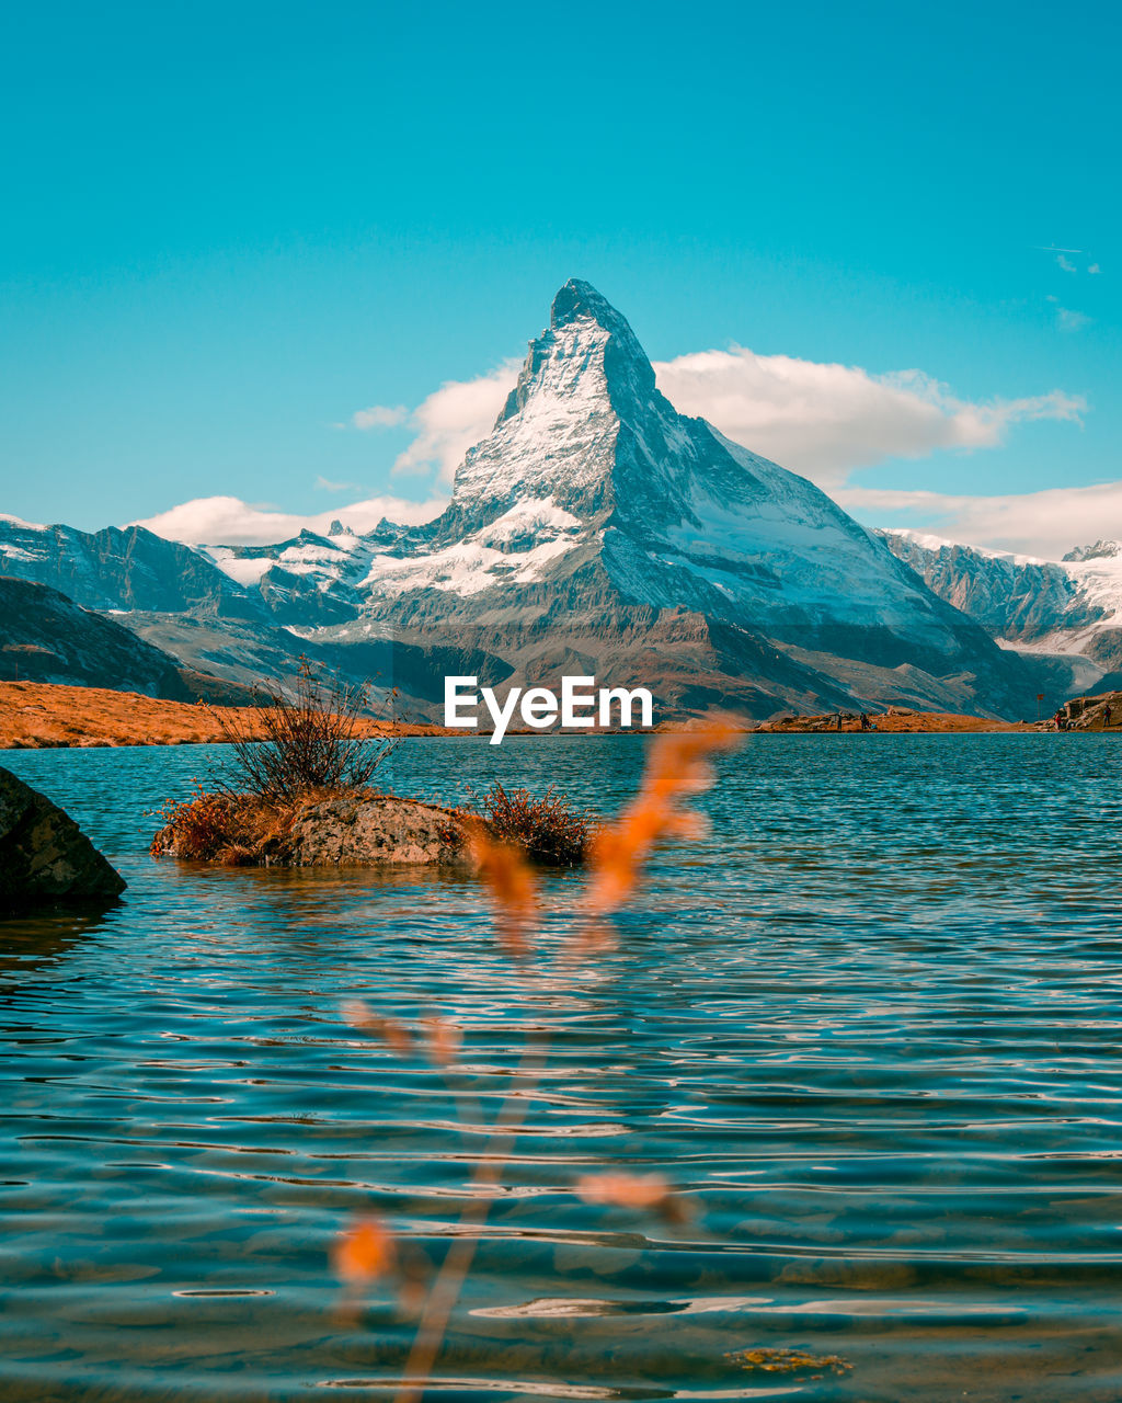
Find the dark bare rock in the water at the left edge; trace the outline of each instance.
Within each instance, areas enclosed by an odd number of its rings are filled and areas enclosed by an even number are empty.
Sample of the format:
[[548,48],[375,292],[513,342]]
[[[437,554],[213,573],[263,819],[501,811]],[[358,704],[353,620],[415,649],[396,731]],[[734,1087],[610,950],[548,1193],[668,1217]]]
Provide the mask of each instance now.
[[125,880],[49,798],[0,769],[0,913],[109,902]]

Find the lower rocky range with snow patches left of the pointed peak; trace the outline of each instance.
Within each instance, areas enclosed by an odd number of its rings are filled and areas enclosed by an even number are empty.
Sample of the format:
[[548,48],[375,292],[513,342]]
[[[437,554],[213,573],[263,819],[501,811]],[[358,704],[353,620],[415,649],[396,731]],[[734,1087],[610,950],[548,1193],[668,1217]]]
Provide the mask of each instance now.
[[[27,676],[32,669],[39,680],[230,702],[247,700],[248,689],[262,680],[290,678],[297,659],[309,655],[355,680],[377,678],[386,687],[400,685],[418,714],[429,714],[431,703],[442,694],[445,673],[474,672],[494,685],[509,666],[470,648],[418,648],[394,638],[363,640],[339,651],[331,641],[320,647],[316,629],[302,627],[353,619],[365,595],[348,595],[349,585],[341,578],[351,560],[348,551],[358,560],[360,577],[362,561],[401,533],[401,528],[387,525],[359,540],[332,528],[331,539],[306,532],[264,551],[216,547],[215,556],[226,567],[219,568],[206,553],[140,526],[88,533],[0,515],[0,586],[49,586],[38,593],[4,595],[0,650],[11,652],[13,675],[22,669],[20,675]],[[332,547],[337,535],[342,550]],[[351,574],[356,574],[353,561]],[[25,605],[48,596],[55,600],[49,610]],[[13,600],[20,600],[18,609]],[[98,615],[108,617],[98,620]],[[91,620],[107,627],[97,633]],[[67,629],[72,647],[65,645]],[[116,644],[109,647],[111,630],[114,638],[119,633],[135,636],[135,655]],[[88,640],[98,640],[97,647]],[[107,666],[98,668],[95,654],[102,645]],[[38,652],[32,657],[29,648]],[[156,657],[163,659],[160,666]],[[111,659],[116,661],[109,665]],[[184,671],[170,682],[160,669],[175,664]],[[216,679],[231,686],[217,686]]]

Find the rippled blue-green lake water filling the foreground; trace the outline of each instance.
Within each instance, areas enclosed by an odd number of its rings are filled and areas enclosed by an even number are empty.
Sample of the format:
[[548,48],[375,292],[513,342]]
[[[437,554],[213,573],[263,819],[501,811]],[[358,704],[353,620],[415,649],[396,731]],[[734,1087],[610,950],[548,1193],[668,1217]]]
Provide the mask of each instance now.
[[[414,741],[393,783],[610,812],[642,749]],[[470,880],[151,861],[146,811],[213,753],[0,756],[129,882],[0,925],[4,1403],[391,1399],[414,1326],[388,1284],[344,1309],[331,1244],[376,1214],[439,1260],[512,1085],[426,1397],[1122,1397],[1114,738],[749,739],[590,969],[547,962],[579,892],[548,881],[529,975]],[[355,998],[461,1023],[463,1075]],[[691,1219],[582,1202],[602,1167]]]

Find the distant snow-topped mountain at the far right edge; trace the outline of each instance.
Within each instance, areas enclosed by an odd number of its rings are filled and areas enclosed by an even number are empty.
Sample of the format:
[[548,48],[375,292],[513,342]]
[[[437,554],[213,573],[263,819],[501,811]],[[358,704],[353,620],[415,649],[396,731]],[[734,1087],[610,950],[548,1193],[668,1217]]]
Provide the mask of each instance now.
[[1014,556],[928,536],[878,532],[940,598],[994,638],[1036,654],[1080,657],[1080,685],[1122,669],[1122,543],[1079,546],[1062,561]]

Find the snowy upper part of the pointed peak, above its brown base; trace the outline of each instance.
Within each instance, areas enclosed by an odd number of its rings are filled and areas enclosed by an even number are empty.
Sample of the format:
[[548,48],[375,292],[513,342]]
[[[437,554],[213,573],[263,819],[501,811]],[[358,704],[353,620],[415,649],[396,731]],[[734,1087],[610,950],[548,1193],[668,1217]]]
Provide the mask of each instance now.
[[557,295],[443,516],[370,560],[372,602],[558,582],[603,563],[621,598],[756,627],[948,626],[927,591],[811,483],[677,414],[627,321],[588,283]]

